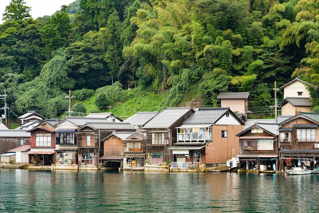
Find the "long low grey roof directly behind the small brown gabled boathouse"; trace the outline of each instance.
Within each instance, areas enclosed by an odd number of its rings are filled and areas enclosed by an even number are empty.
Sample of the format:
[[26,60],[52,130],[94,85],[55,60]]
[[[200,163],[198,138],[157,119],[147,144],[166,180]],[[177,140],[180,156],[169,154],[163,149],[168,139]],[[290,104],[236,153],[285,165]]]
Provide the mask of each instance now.
[[104,122],[104,123],[86,123],[83,126],[79,127],[77,130],[81,131],[81,129],[85,127],[90,127],[93,130],[135,130],[135,127],[125,122]]

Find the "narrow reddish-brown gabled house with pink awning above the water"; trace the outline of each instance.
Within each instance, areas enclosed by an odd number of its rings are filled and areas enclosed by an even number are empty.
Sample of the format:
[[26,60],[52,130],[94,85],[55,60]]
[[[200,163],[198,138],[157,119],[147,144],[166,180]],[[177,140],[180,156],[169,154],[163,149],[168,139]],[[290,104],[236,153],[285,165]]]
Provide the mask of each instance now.
[[56,147],[56,129],[45,121],[28,130],[31,133],[30,165],[51,165],[54,163]]

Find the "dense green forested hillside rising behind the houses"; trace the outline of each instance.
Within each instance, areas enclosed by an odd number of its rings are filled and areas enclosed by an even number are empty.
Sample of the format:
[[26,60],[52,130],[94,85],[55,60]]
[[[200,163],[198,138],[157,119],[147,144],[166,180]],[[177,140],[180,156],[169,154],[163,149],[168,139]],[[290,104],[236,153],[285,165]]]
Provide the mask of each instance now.
[[314,0],[77,0],[35,20],[12,0],[0,25],[0,92],[16,114],[53,118],[67,111],[69,90],[73,111],[136,100],[127,115],[199,95],[218,106],[220,92],[249,91],[252,116],[271,117],[274,82],[299,77],[318,106],[318,10]]

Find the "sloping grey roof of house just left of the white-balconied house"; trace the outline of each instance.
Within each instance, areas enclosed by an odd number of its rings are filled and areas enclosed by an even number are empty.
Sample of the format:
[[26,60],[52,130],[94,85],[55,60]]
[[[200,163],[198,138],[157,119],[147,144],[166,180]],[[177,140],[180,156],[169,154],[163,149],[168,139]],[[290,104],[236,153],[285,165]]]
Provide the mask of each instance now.
[[175,107],[167,108],[166,110],[158,113],[153,119],[145,124],[143,129],[169,129],[185,114],[194,112],[191,107]]

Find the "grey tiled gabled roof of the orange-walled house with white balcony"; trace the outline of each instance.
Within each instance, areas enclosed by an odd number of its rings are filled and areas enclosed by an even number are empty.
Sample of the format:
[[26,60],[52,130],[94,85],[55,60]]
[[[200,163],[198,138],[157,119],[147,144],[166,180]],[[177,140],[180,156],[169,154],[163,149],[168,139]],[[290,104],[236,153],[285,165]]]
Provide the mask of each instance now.
[[198,108],[198,110],[192,114],[182,125],[192,124],[209,124],[213,125],[221,119],[226,113],[231,113],[235,119],[244,125],[244,122],[239,119],[235,113],[233,113],[229,107],[211,107],[211,108]]

